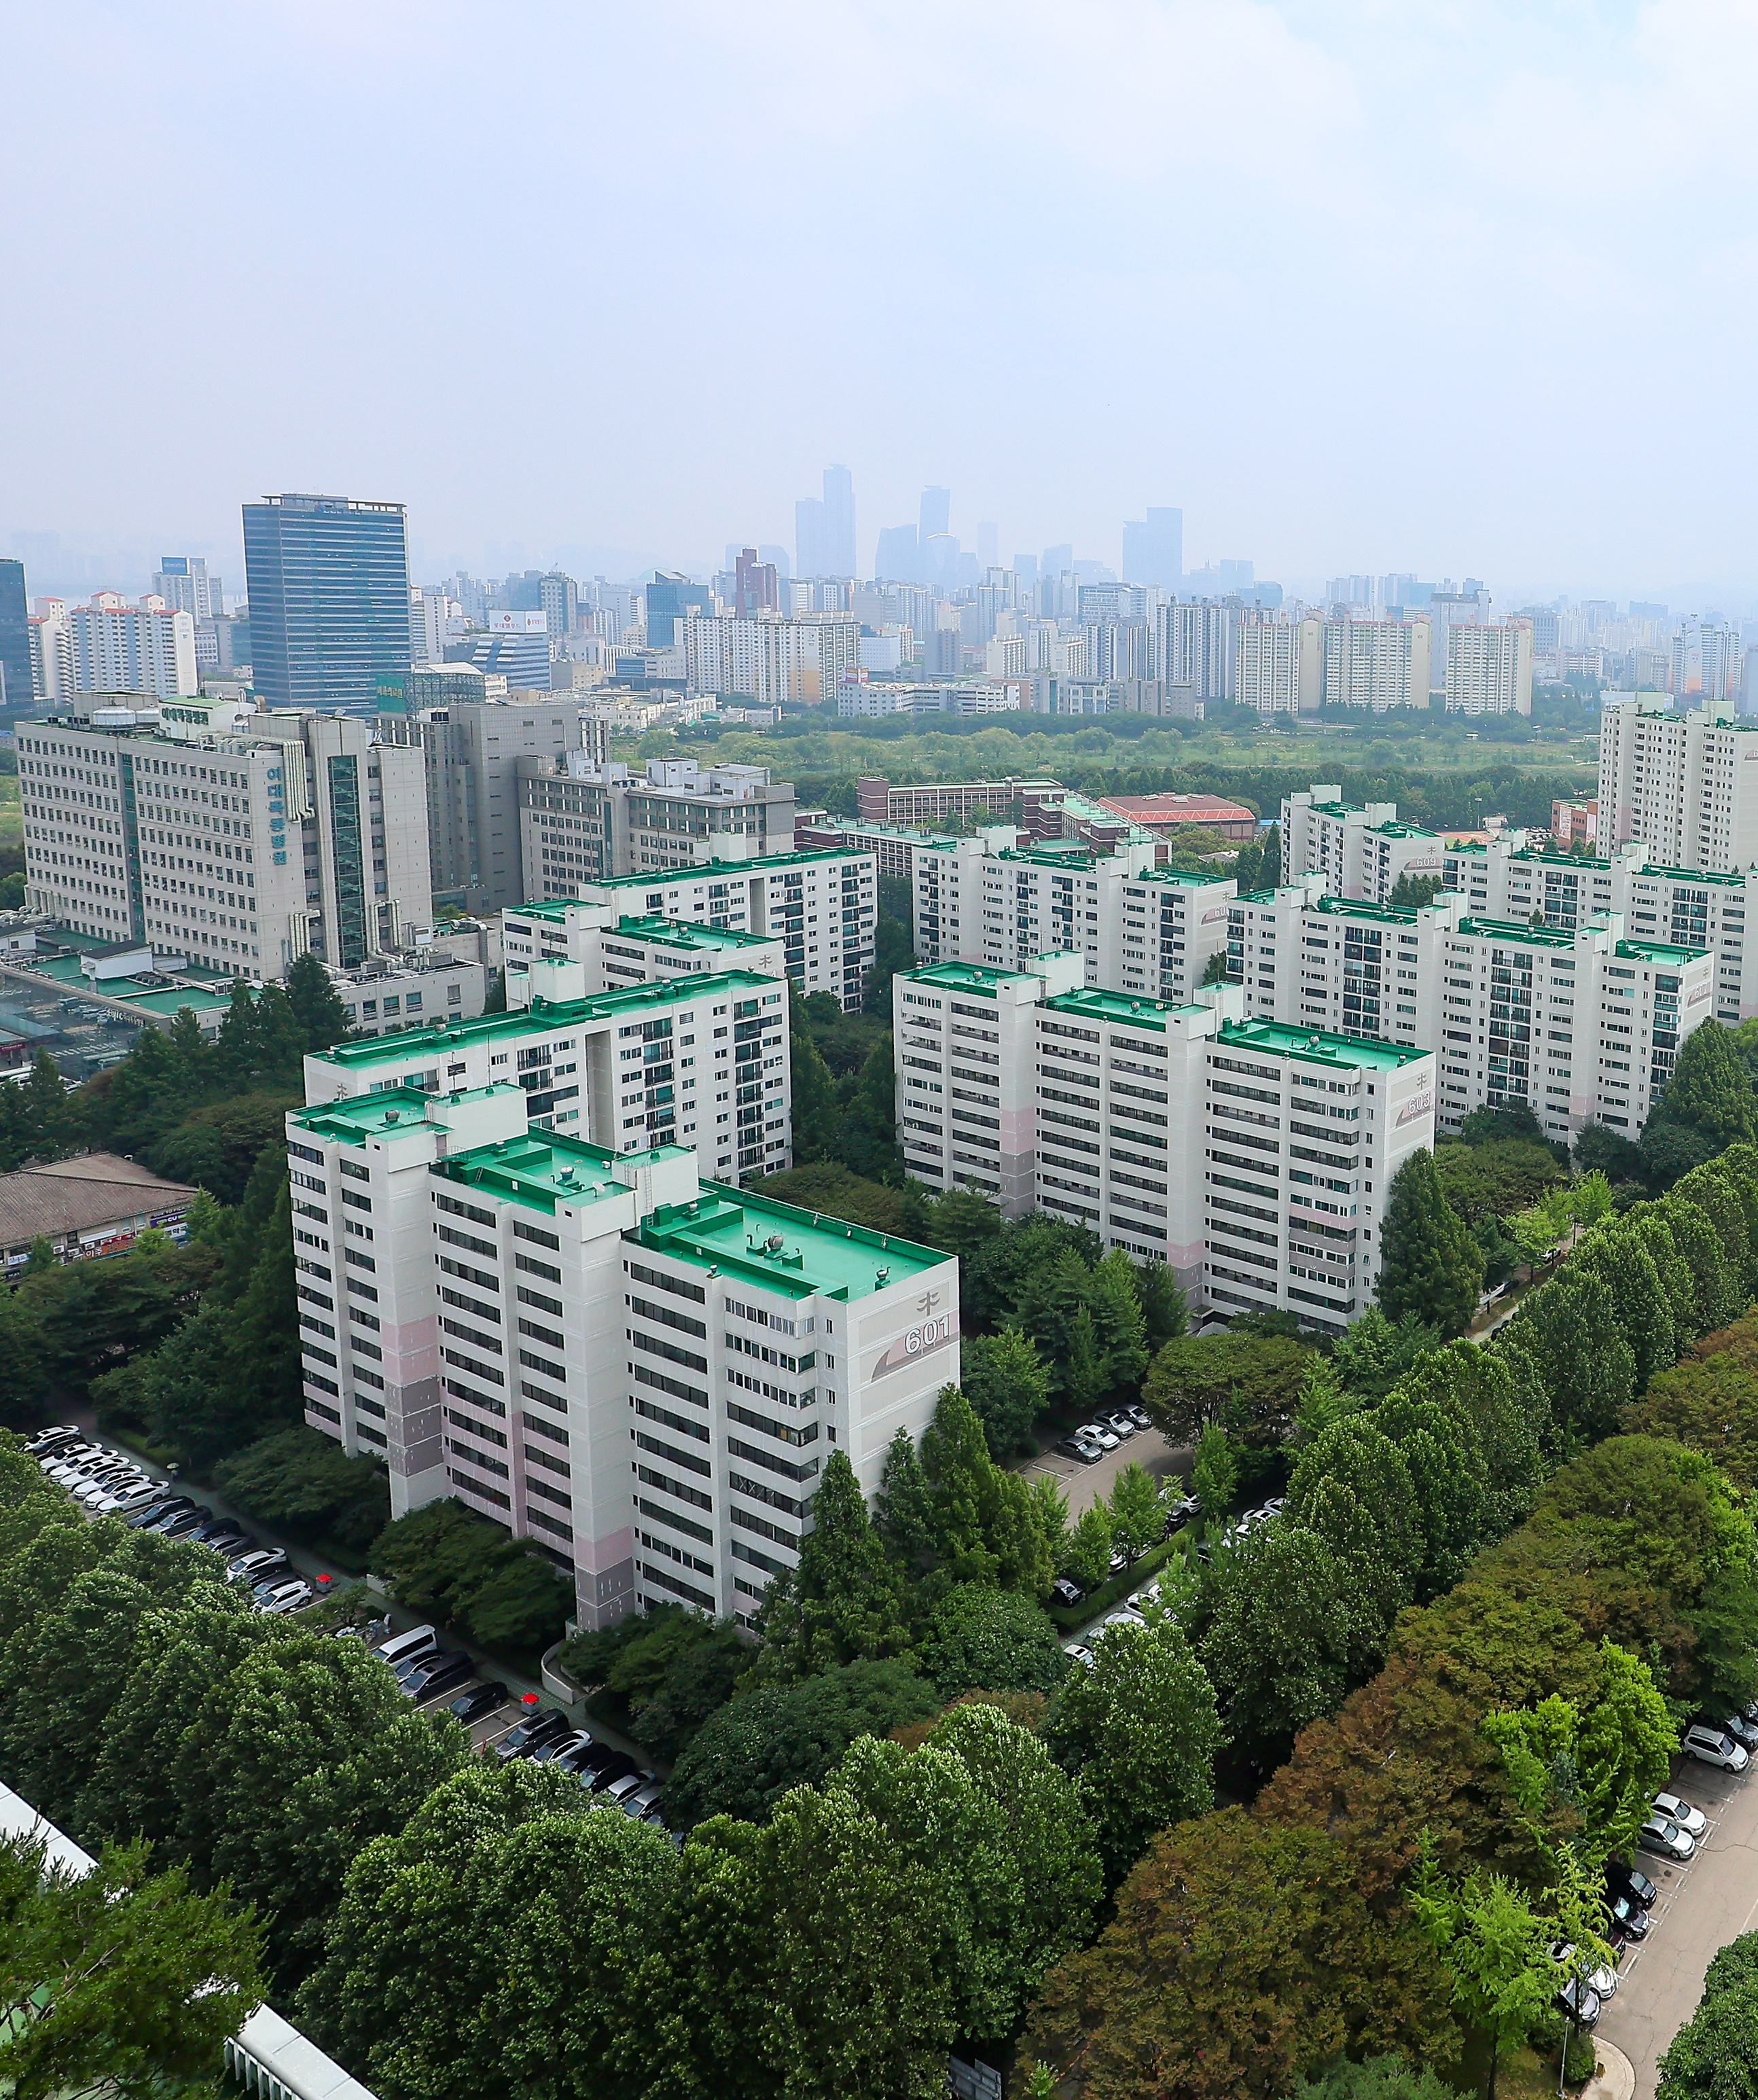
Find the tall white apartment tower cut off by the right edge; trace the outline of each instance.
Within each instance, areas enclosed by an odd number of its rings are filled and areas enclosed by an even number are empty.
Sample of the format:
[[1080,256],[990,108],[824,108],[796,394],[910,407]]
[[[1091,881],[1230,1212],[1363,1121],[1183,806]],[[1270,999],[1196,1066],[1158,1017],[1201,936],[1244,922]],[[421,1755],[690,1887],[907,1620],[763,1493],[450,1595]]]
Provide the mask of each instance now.
[[1640,838],[1668,867],[1733,874],[1758,861],[1758,720],[1731,701],[1676,714],[1666,695],[1598,718],[1598,836]]

